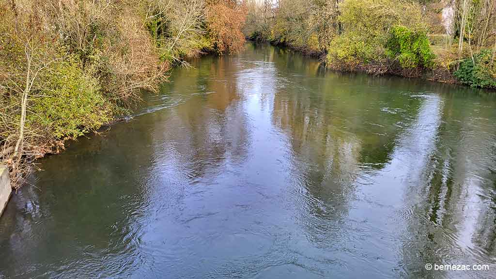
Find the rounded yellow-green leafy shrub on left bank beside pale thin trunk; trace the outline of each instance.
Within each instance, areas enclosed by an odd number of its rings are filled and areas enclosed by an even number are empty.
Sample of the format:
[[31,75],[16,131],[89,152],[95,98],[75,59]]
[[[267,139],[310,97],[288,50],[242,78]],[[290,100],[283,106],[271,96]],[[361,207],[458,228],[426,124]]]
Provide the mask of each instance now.
[[32,100],[30,125],[62,139],[81,136],[111,119],[98,80],[84,72],[75,57],[52,64],[43,76],[43,89]]

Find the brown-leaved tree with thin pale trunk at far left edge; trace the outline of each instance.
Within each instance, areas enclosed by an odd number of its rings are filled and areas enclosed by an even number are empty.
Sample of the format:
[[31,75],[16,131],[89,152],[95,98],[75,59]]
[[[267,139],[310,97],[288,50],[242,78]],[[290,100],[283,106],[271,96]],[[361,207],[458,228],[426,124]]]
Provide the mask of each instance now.
[[3,126],[0,130],[5,131],[2,156],[15,175],[24,172],[21,170],[24,155],[36,156],[39,152],[30,144],[39,131],[27,126],[29,101],[43,86],[44,71],[60,57],[56,38],[41,28],[44,17],[36,3],[24,6],[23,12],[17,11],[13,2],[10,7],[6,3],[1,5],[6,24],[1,26],[0,33],[0,88],[1,95],[10,96],[3,101],[5,110],[0,111]]

